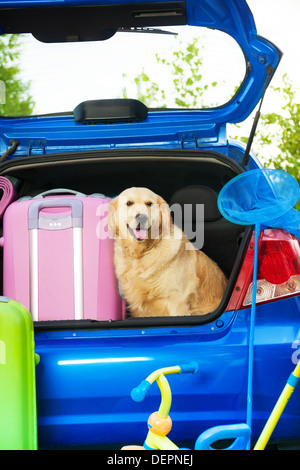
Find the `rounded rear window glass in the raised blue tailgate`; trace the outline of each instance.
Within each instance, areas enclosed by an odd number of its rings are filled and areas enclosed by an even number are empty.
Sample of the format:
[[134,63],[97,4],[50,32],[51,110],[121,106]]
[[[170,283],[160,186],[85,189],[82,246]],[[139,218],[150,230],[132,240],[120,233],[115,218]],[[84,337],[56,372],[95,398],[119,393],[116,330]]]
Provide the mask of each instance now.
[[[2,55],[7,41],[8,36],[0,37]],[[6,67],[19,68],[15,78],[25,91],[9,93],[2,67],[1,115],[26,114],[12,100],[28,97],[28,114],[68,112],[82,101],[122,97],[140,99],[150,108],[218,107],[234,96],[246,73],[237,42],[207,28],[118,31],[104,41],[50,44],[22,34],[16,44],[6,48],[7,55],[18,55]]]

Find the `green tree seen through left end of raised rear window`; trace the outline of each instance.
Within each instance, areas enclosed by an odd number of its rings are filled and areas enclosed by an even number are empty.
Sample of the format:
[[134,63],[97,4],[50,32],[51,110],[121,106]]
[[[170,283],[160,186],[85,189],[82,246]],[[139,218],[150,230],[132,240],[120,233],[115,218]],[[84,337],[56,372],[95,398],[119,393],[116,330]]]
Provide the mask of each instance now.
[[20,78],[20,37],[15,34],[0,37],[1,116],[31,114],[34,101],[29,93],[30,82]]

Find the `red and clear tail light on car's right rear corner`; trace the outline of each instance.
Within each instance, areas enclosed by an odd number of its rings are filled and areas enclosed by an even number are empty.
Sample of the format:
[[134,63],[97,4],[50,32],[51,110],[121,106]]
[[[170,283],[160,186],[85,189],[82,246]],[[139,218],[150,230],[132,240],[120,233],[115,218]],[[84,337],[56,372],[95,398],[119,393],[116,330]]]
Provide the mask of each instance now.
[[[252,302],[254,235],[226,310],[249,307]],[[300,245],[285,230],[268,229],[258,243],[256,303],[300,293]]]

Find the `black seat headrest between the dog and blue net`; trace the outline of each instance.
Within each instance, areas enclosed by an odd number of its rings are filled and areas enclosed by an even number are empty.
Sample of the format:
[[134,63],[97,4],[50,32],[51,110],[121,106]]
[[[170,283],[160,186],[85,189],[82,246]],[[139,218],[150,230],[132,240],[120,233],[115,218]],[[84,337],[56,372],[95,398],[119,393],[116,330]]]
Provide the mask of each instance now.
[[[192,206],[192,221],[196,220],[196,204],[204,204],[204,220],[215,221],[222,218],[218,209],[218,195],[216,191],[208,186],[193,185],[178,189],[170,199],[170,206],[179,204],[184,210],[184,205]],[[171,207],[172,208],[172,207]]]

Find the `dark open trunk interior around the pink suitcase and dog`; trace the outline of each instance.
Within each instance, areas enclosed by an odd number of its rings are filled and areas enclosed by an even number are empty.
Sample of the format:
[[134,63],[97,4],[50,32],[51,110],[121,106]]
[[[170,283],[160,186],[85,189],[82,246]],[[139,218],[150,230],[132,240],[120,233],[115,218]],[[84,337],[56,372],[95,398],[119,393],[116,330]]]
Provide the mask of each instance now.
[[199,221],[194,209],[196,204],[203,204],[201,249],[218,263],[229,280],[219,308],[204,316],[137,319],[130,318],[130,312],[127,312],[123,321],[36,322],[36,328],[203,324],[218,318],[227,307],[252,230],[225,220],[218,210],[217,197],[221,188],[242,171],[242,167],[225,155],[191,150],[103,150],[25,157],[3,163],[1,175],[13,182],[19,197],[35,196],[56,188],[114,197],[131,186],[148,187],[161,195],[171,208],[173,204],[179,204],[183,216],[185,205],[192,207],[189,217],[195,233]]

